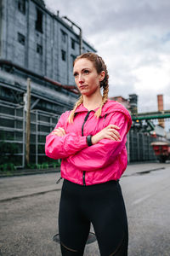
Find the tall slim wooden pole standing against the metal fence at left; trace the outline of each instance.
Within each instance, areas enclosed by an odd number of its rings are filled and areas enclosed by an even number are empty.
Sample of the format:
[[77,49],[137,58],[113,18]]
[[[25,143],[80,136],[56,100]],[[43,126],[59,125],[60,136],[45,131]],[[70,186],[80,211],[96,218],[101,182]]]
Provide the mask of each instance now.
[[31,79],[27,79],[26,91],[26,166],[30,163],[30,127],[31,127]]

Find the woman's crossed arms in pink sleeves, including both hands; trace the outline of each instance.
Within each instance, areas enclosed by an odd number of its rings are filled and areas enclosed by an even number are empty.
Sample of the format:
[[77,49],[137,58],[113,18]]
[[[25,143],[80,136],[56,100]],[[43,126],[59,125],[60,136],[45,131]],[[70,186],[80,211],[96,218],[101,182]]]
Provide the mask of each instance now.
[[86,137],[72,132],[66,134],[64,126],[58,123],[47,137],[46,154],[54,159],[67,158],[72,165],[84,171],[109,165],[126,143],[127,120],[122,113],[117,113],[116,118],[119,121],[116,122],[113,115],[110,125],[92,137],[91,147],[88,147]]

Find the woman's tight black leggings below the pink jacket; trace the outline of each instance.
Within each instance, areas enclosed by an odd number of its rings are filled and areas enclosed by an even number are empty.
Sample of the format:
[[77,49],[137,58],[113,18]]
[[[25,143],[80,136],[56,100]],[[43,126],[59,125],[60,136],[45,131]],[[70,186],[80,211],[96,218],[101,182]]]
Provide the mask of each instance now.
[[82,256],[90,223],[102,256],[127,256],[127,214],[116,181],[82,186],[64,180],[59,204],[59,239],[63,256]]

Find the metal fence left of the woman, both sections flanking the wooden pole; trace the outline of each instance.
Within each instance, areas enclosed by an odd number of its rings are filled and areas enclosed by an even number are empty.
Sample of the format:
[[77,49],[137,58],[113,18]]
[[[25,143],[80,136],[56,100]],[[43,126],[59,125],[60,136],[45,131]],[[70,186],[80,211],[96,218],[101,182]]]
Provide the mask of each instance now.
[[[31,110],[30,162],[50,161],[44,153],[45,137],[54,129],[59,114]],[[3,163],[24,167],[26,159],[26,111],[24,107],[0,102],[0,143]]]

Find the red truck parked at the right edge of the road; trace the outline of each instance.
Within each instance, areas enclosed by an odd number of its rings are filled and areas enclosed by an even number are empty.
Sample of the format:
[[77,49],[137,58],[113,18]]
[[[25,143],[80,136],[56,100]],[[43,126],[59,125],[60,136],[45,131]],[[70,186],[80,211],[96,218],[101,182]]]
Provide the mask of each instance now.
[[170,160],[170,143],[155,142],[151,143],[157,159],[161,163],[165,163],[166,160]]

